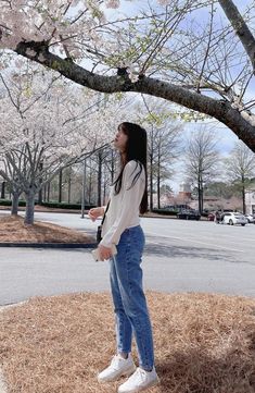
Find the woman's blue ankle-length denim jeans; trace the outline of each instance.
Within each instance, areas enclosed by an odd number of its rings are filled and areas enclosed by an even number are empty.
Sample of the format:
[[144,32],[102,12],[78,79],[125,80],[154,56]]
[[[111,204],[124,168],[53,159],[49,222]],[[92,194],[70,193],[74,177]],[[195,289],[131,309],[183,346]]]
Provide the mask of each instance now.
[[118,353],[130,353],[135,334],[139,366],[151,370],[154,365],[153,339],[146,299],[142,288],[141,257],[144,234],[140,225],[127,229],[111,259],[111,288],[116,319]]

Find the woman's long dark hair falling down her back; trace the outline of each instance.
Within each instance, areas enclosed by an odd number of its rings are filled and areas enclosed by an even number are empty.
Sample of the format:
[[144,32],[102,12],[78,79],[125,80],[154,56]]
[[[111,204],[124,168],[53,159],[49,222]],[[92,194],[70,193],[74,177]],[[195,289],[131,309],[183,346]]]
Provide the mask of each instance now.
[[115,180],[114,191],[115,194],[120,192],[123,185],[123,171],[128,161],[135,160],[137,161],[137,165],[139,165],[139,172],[133,176],[131,187],[137,182],[138,177],[142,172],[142,167],[145,171],[145,189],[142,196],[141,205],[140,205],[140,213],[144,213],[148,211],[148,181],[146,181],[146,132],[140,125],[135,123],[124,122],[118,125],[118,131],[123,131],[125,135],[127,135],[127,144],[125,149],[126,160],[122,162],[122,170],[119,175]]

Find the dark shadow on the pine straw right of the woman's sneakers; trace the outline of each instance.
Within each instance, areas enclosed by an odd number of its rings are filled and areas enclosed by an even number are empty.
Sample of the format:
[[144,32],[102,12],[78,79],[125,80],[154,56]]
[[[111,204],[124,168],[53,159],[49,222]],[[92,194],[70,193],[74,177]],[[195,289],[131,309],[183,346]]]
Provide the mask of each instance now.
[[[230,351],[227,356],[217,358],[203,349],[175,353],[170,359],[160,363],[158,391],[176,392],[177,381],[180,381],[181,392],[186,392],[186,385],[189,393],[255,392],[255,372],[251,372],[251,361],[247,359],[243,359],[240,367],[242,354],[239,351]],[[245,373],[245,370],[248,372]]]

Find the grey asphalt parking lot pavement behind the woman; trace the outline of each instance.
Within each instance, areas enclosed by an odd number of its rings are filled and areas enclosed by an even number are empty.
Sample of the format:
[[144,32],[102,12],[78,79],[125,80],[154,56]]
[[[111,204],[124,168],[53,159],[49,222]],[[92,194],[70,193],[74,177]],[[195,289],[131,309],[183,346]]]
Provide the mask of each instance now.
[[[79,214],[36,213],[36,219],[94,233]],[[144,287],[255,296],[255,225],[142,219],[146,234]],[[0,305],[37,295],[107,291],[107,262],[89,249],[0,248]]]

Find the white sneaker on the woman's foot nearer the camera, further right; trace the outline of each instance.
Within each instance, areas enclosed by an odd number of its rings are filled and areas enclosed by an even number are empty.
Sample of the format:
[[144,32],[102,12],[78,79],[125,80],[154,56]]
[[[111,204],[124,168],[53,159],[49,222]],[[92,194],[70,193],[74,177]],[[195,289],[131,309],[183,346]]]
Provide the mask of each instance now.
[[153,367],[152,371],[145,371],[138,367],[136,372],[118,388],[118,393],[135,393],[141,392],[149,388],[155,386],[160,383],[156,370]]

